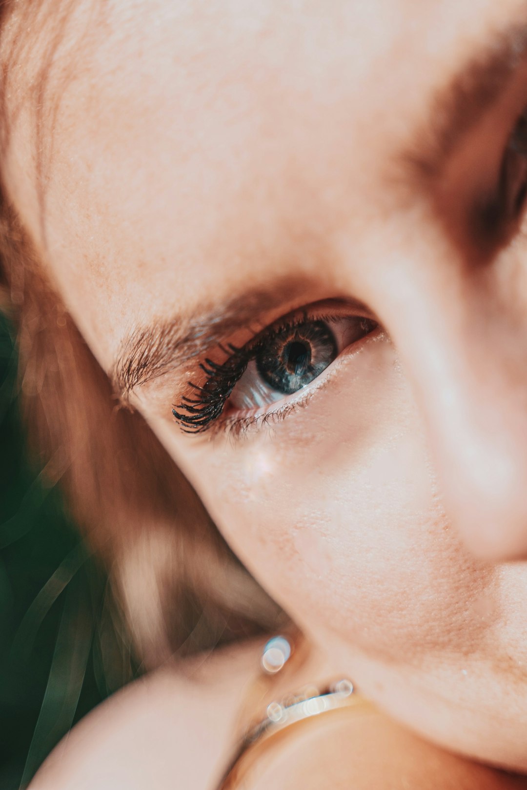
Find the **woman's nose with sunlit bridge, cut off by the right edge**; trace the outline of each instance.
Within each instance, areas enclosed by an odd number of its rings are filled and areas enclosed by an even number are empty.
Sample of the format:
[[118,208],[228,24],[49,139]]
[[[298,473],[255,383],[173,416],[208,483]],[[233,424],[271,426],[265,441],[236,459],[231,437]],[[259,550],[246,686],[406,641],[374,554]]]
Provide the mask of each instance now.
[[382,280],[453,528],[480,559],[527,559],[527,276],[410,256]]

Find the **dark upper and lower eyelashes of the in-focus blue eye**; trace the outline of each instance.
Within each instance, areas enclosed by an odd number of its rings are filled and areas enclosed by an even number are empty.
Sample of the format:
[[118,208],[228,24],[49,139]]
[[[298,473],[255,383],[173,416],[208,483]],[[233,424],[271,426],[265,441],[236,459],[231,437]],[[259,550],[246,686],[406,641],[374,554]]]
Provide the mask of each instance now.
[[301,398],[293,402],[283,404],[275,409],[268,409],[258,415],[238,416],[230,420],[223,419],[219,421],[235,384],[239,382],[239,379],[247,369],[247,365],[251,359],[258,355],[263,346],[272,342],[280,333],[291,331],[296,326],[305,324],[308,320],[329,321],[329,319],[330,317],[328,316],[312,315],[304,310],[296,318],[286,319],[265,329],[241,348],[237,348],[232,344],[228,344],[227,347],[220,346],[220,351],[226,356],[224,362],[218,364],[213,359],[205,359],[205,362],[199,365],[201,371],[207,377],[203,386],[198,386],[194,382],[188,382],[188,386],[194,391],[193,395],[182,397],[181,402],[177,405],[175,404],[172,408],[172,414],[178,421],[181,430],[188,434],[200,434],[209,431],[213,424],[216,423],[218,428],[223,427],[239,435],[250,427],[278,422],[296,408],[306,405],[310,400],[311,391],[303,393]]

